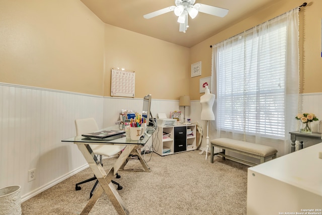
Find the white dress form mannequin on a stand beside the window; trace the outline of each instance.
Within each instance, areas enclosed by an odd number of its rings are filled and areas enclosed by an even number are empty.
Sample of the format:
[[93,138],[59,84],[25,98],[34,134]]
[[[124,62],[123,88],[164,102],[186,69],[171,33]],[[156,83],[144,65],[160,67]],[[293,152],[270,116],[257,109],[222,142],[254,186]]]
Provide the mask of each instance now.
[[[209,121],[215,120],[215,115],[212,111],[212,106],[215,101],[215,95],[211,94],[208,86],[205,87],[205,94],[200,97],[200,103],[201,103],[201,120],[207,121],[207,148],[206,148],[206,160],[208,155],[208,149],[209,149],[209,135],[208,135],[208,128],[209,128]],[[205,150],[202,150],[200,154],[202,154]]]

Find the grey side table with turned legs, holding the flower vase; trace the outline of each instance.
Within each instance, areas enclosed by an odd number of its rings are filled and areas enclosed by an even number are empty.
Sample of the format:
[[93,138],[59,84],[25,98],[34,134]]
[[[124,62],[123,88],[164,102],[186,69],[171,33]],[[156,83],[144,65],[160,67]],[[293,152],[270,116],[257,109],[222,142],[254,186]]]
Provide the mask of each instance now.
[[316,144],[322,142],[322,137],[320,133],[312,132],[312,133],[302,133],[299,131],[292,131],[291,134],[291,153],[295,152],[295,141],[299,141],[298,149],[303,149],[303,141],[305,140],[314,140]]

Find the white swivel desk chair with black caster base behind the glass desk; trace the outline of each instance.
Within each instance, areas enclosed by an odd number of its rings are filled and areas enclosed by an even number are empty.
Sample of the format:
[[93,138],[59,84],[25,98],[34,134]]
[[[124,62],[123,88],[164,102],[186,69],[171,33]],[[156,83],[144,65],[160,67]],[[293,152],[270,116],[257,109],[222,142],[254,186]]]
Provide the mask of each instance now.
[[[86,119],[76,119],[75,120],[75,126],[76,126],[76,135],[82,135],[84,133],[89,133],[89,132],[92,132],[92,131],[96,131],[98,130],[98,125],[96,123],[96,120],[94,118],[86,118]],[[117,153],[121,152],[125,147],[124,146],[116,146],[116,145],[91,145],[91,148],[94,152],[95,155],[99,155],[100,156],[100,163],[101,165],[103,166],[103,161],[102,161],[102,156],[107,156],[107,157],[111,157],[113,155],[116,155]],[[116,173],[116,178],[120,178],[121,176],[119,176],[117,173]],[[90,198],[92,197],[93,195],[93,192],[98,184],[98,180],[96,178],[96,176],[90,178],[90,179],[87,179],[85,181],[82,181],[82,182],[79,182],[76,184],[75,186],[75,190],[80,190],[81,187],[79,187],[78,185],[80,184],[84,184],[84,183],[87,183],[87,182],[90,182],[90,181],[94,181],[96,180],[95,182],[95,185],[94,187],[92,188],[92,191],[90,193]],[[112,183],[113,184],[116,184],[117,185],[117,189],[118,190],[121,190],[122,189],[122,186],[120,186],[119,183],[115,182],[112,180]]]

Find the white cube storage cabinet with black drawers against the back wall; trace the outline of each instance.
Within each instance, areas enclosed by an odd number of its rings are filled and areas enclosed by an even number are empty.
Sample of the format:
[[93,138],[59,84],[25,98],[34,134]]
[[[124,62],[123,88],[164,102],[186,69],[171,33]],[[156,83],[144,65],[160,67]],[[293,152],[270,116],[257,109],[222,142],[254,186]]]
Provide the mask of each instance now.
[[153,135],[153,151],[161,156],[197,149],[195,124],[158,126]]

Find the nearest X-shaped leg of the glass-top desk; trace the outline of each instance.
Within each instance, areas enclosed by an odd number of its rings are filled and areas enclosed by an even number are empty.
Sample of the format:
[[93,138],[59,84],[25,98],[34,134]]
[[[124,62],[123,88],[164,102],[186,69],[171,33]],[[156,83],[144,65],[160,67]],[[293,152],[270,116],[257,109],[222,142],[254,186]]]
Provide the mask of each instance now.
[[91,211],[97,200],[101,197],[103,192],[107,194],[118,214],[129,214],[129,211],[126,208],[125,203],[123,202],[121,196],[112,184],[112,178],[114,177],[115,172],[114,168],[111,168],[108,174],[106,174],[102,165],[100,164],[100,161],[96,158],[89,145],[77,144],[77,146],[100,182],[100,186],[94,192],[92,198],[89,200],[81,214],[89,214],[89,212]]

